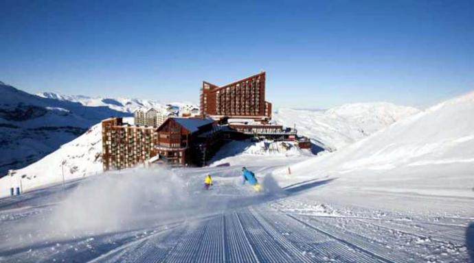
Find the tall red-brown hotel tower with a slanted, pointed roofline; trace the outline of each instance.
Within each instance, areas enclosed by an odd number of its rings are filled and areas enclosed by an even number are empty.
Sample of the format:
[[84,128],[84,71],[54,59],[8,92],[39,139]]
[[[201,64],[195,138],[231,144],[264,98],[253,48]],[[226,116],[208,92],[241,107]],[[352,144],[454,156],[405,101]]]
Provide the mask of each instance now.
[[201,114],[216,120],[227,117],[268,121],[271,103],[265,101],[265,73],[224,86],[203,82]]

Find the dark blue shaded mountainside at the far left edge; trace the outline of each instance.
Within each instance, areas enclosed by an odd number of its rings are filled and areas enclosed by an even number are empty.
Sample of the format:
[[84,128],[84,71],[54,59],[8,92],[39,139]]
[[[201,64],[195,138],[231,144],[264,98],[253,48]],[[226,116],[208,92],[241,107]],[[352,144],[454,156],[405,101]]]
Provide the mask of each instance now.
[[104,118],[131,115],[38,97],[3,83],[0,94],[0,176],[36,162]]

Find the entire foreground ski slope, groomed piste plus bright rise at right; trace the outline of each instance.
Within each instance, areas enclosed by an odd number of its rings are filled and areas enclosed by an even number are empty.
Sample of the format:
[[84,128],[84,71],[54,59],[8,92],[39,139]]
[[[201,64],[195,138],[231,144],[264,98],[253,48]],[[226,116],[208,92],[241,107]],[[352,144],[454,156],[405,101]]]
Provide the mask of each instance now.
[[0,199],[0,262],[469,262],[472,112],[474,92],[326,155],[236,156],[259,193],[240,166],[152,167]]

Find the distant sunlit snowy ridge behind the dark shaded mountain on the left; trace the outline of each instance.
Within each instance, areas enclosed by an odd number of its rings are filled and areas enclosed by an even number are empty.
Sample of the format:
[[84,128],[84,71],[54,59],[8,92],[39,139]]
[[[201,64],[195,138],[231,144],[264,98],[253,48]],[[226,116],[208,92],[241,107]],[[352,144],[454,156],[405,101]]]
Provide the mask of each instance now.
[[48,99],[57,99],[60,101],[72,101],[80,103],[88,107],[104,106],[111,110],[119,112],[133,113],[137,108],[155,108],[156,110],[166,111],[169,105],[174,106],[178,110],[188,110],[197,108],[193,103],[161,103],[148,99],[126,99],[126,98],[102,98],[87,97],[84,95],[60,95],[56,92],[41,92],[37,94],[39,97]]

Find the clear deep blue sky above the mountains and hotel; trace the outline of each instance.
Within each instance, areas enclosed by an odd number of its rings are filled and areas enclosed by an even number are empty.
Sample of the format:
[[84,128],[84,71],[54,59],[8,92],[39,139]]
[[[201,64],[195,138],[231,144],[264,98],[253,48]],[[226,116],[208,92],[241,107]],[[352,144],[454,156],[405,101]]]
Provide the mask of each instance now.
[[275,108],[474,89],[474,1],[0,1],[0,80],[27,92],[198,101],[267,71]]

